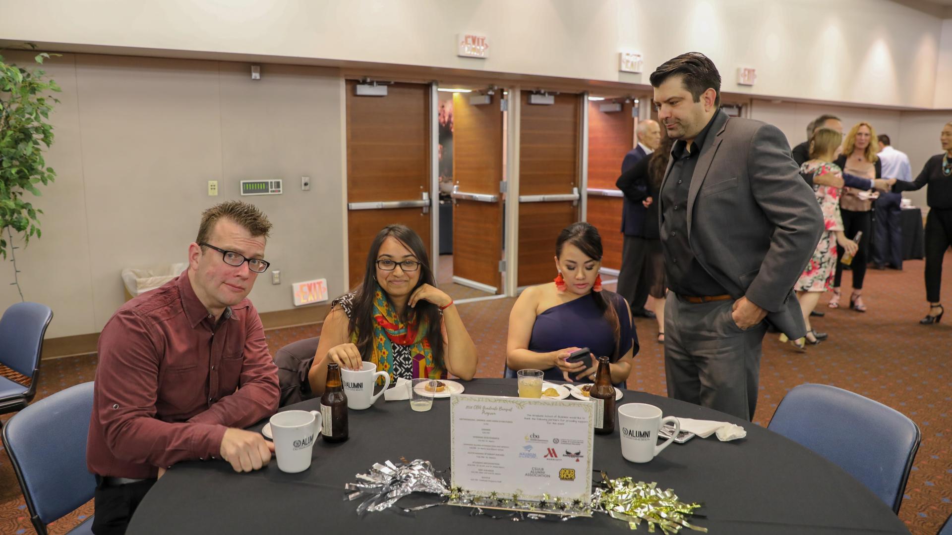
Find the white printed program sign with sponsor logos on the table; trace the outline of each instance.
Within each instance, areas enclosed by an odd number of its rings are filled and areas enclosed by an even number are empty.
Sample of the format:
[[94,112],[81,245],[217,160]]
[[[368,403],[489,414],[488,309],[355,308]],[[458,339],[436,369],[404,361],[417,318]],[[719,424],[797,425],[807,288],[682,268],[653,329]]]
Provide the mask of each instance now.
[[449,404],[451,485],[588,503],[594,404],[466,394]]

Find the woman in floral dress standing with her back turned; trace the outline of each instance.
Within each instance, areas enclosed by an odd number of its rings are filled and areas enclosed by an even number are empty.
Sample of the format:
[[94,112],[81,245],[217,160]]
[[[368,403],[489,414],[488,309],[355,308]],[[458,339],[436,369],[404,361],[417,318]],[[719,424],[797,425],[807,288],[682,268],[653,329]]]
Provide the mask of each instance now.
[[[837,177],[843,176],[843,170],[832,163],[836,149],[843,141],[843,134],[834,129],[818,129],[810,141],[811,160],[803,162],[801,172],[820,176],[823,173],[833,173]],[[806,336],[800,340],[791,340],[797,349],[803,350],[806,343],[816,345],[826,338],[825,333],[818,333],[810,327],[810,312],[820,301],[820,294],[833,287],[833,273],[837,263],[837,244],[840,244],[850,255],[855,254],[858,248],[856,242],[846,238],[843,233],[843,219],[840,217],[840,188],[815,185],[813,190],[817,195],[817,202],[823,210],[825,232],[820,237],[820,243],[813,251],[813,257],[803,269],[800,279],[794,289],[797,291],[797,300],[803,310],[803,322],[806,324]]]

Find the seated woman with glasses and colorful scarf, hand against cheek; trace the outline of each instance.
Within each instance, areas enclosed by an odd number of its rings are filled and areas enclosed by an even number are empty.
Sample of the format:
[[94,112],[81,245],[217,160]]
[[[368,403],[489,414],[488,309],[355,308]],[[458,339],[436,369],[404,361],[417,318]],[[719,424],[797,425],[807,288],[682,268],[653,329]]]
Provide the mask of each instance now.
[[435,285],[420,236],[403,225],[381,230],[363,284],[331,303],[307,374],[314,395],[324,392],[330,363],[360,369],[372,362],[391,383],[448,374],[472,379],[476,346],[453,300]]

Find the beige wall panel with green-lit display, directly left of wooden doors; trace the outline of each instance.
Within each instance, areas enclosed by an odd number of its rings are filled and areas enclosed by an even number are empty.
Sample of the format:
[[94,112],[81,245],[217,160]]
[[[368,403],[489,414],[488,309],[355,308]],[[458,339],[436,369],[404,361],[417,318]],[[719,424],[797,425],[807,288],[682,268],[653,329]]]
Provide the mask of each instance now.
[[[261,311],[293,308],[290,285],[327,278],[329,297],[345,292],[341,170],[341,81],[334,70],[266,65],[251,80],[248,64],[221,64],[222,199],[263,209],[274,228],[270,273],[250,299]],[[310,177],[310,190],[301,177]],[[241,197],[239,181],[284,179],[284,193]]]

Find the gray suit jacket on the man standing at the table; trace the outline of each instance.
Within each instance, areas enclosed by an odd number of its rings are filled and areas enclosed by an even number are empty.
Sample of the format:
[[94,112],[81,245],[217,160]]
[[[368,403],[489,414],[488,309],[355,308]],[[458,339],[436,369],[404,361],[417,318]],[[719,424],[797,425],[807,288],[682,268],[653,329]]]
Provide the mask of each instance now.
[[[663,217],[664,206],[658,211]],[[823,228],[823,212],[783,132],[719,111],[688,190],[691,250],[731,297],[766,309],[767,321],[791,340],[806,333],[793,286]]]

